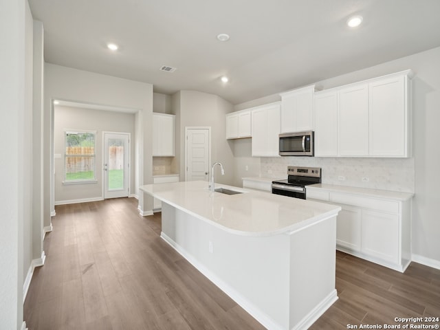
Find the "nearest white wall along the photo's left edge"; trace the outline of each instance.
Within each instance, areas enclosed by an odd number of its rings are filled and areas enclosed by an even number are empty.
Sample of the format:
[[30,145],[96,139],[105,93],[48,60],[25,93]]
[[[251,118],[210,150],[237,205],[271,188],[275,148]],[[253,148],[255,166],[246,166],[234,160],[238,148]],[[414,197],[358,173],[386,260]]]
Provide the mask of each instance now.
[[[0,320],[2,329],[21,329],[23,323],[23,270],[30,257],[32,180],[28,154],[32,148],[32,15],[25,0],[1,3],[0,100]],[[31,146],[30,146],[31,145]],[[32,150],[32,149],[31,149]]]

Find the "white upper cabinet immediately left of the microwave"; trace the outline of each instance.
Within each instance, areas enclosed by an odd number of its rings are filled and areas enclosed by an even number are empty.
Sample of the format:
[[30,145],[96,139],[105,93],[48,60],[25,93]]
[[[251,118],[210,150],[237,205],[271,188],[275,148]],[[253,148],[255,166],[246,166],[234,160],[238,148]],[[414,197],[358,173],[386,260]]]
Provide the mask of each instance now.
[[279,102],[252,109],[252,156],[278,156],[279,133]]

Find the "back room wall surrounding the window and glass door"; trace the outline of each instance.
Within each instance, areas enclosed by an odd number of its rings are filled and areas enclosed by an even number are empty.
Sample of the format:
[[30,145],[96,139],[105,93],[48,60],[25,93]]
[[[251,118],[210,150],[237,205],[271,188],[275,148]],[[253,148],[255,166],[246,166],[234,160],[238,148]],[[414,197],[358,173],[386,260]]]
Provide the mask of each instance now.
[[[96,179],[94,184],[63,184],[65,130],[96,131]],[[80,199],[103,199],[102,195],[102,132],[131,133],[135,137],[134,113],[120,113],[76,107],[55,106],[54,111],[54,159],[55,205],[73,203]],[[134,164],[134,144],[131,144],[130,164]],[[131,189],[135,189],[135,166],[130,167]]]

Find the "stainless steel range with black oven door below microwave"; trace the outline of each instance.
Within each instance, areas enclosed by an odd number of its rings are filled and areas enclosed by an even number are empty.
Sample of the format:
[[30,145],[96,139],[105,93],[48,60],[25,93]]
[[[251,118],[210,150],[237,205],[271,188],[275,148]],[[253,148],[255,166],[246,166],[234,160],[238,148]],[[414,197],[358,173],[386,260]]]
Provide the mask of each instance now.
[[321,183],[319,167],[287,167],[287,179],[272,181],[272,194],[305,199],[305,186]]

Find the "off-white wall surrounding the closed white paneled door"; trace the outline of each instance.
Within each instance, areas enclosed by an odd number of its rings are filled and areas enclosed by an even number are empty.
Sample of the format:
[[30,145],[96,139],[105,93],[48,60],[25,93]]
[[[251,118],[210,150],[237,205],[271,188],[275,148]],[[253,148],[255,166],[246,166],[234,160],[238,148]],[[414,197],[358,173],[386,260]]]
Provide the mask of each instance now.
[[176,134],[179,134],[176,148],[179,148],[180,180],[185,180],[185,127],[211,127],[211,164],[221,162],[225,175],[215,173],[215,181],[232,184],[234,177],[234,158],[232,150],[225,140],[225,114],[232,111],[232,104],[219,96],[200,91],[179,91],[173,95],[173,111],[176,113]]

